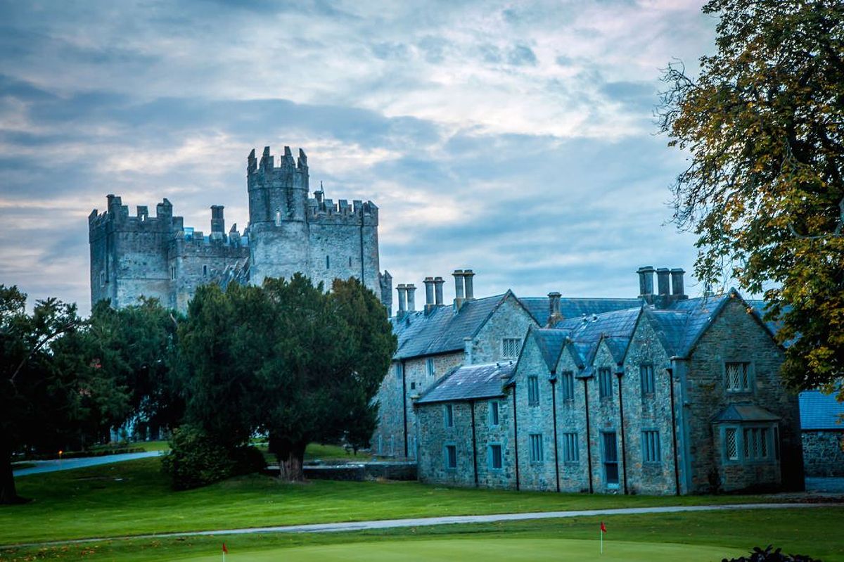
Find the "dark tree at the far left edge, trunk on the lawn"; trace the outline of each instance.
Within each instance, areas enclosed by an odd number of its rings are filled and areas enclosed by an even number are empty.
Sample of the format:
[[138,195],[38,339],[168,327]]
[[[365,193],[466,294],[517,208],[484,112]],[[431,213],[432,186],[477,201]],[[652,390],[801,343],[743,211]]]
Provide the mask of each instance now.
[[18,503],[12,454],[57,451],[84,439],[126,403],[122,389],[84,354],[85,323],[75,305],[39,300],[0,285],[0,503]]

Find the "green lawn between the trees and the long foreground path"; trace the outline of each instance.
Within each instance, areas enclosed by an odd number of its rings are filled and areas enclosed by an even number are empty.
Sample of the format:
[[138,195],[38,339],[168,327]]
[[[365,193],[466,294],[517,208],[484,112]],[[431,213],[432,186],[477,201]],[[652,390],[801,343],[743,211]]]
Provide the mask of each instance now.
[[252,475],[173,492],[147,458],[16,479],[27,505],[0,506],[0,544],[297,523],[694,505],[760,496],[624,496],[446,489],[415,482],[279,483]]

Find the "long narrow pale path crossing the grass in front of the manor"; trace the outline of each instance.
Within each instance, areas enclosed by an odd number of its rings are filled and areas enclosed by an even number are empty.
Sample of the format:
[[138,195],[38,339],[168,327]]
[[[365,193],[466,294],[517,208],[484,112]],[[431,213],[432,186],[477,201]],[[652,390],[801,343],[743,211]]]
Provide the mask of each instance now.
[[0,546],[5,548],[56,546],[61,544],[99,543],[107,540],[127,538],[174,538],[199,537],[209,535],[241,535],[276,532],[348,532],[374,529],[392,529],[397,527],[429,527],[432,525],[453,525],[456,523],[493,523],[496,521],[530,521],[534,519],[555,519],[562,517],[592,517],[612,515],[641,515],[647,513],[679,513],[685,511],[734,511],[734,510],[782,510],[807,509],[812,507],[841,507],[841,503],[827,504],[735,504],[735,505],[674,505],[669,507],[627,507],[613,510],[580,511],[538,511],[531,513],[500,513],[484,516],[445,516],[419,517],[417,519],[384,519],[380,521],[351,521],[348,523],[317,523],[312,525],[285,525],[282,527],[246,527],[241,529],[219,529],[217,531],[161,532],[153,535],[133,535],[123,537],[81,538],[68,541],[49,541],[45,543],[19,543]]

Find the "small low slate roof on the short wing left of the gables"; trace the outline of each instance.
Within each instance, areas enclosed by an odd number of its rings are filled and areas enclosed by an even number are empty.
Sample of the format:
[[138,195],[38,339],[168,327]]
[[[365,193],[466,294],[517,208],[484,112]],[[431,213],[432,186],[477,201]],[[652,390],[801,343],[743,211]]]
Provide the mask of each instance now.
[[504,395],[503,385],[516,370],[514,361],[454,367],[436,382],[417,404],[457,402]]

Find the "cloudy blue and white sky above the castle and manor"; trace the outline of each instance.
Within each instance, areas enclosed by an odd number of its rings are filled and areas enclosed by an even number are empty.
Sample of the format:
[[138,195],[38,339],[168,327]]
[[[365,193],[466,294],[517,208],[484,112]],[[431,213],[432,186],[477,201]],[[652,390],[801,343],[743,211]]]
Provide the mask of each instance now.
[[653,110],[714,49],[702,4],[0,0],[0,284],[87,313],[106,194],[242,230],[247,154],[289,145],[378,205],[394,284],[635,297],[637,267],[695,260]]

